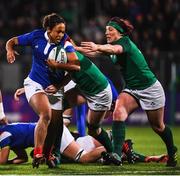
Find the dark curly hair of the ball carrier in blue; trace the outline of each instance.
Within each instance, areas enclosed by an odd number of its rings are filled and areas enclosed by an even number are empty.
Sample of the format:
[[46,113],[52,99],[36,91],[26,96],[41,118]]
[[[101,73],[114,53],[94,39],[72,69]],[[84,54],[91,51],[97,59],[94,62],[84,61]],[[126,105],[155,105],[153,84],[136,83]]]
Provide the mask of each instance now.
[[65,20],[58,14],[51,13],[43,18],[42,26],[44,29],[47,28],[52,29],[54,26],[56,26],[59,23],[65,24]]

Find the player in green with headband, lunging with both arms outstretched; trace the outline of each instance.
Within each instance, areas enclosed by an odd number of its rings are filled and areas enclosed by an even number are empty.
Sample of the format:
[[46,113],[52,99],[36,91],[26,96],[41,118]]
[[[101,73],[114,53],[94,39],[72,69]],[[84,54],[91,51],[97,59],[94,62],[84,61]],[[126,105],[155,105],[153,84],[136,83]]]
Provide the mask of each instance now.
[[82,42],[79,51],[87,56],[108,54],[112,62],[121,68],[125,87],[116,100],[113,112],[113,151],[121,156],[125,139],[125,120],[129,114],[141,107],[147,114],[152,129],[166,144],[169,159],[167,166],[177,165],[177,148],[173,135],[164,124],[164,90],[155,75],[149,69],[146,60],[129,38],[133,30],[132,24],[125,19],[113,17],[106,26],[107,44]]

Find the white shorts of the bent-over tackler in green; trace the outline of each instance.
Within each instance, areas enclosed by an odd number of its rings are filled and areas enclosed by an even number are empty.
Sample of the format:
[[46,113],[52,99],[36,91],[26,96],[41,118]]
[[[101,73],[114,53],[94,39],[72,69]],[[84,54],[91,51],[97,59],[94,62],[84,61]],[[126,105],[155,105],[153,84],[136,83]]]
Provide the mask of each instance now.
[[[81,91],[82,92],[82,91]],[[111,109],[112,90],[110,84],[96,95],[87,95],[82,92],[87,99],[88,107],[94,111],[107,111]]]

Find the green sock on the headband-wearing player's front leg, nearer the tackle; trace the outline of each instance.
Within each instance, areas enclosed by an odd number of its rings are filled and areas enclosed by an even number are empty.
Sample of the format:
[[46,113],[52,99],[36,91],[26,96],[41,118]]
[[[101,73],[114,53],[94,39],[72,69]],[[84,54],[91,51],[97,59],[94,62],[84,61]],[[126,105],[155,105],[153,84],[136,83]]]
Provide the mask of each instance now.
[[113,152],[122,155],[122,146],[125,140],[125,122],[113,121],[112,123]]

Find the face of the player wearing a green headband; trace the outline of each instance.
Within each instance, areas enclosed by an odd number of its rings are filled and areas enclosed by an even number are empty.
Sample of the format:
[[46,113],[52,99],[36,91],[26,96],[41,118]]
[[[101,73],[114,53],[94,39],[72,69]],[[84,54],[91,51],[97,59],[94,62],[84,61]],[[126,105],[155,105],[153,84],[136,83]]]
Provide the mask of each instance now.
[[112,26],[106,26],[106,40],[107,43],[112,43],[118,39],[120,39],[121,34],[119,33],[118,30],[113,28]]

